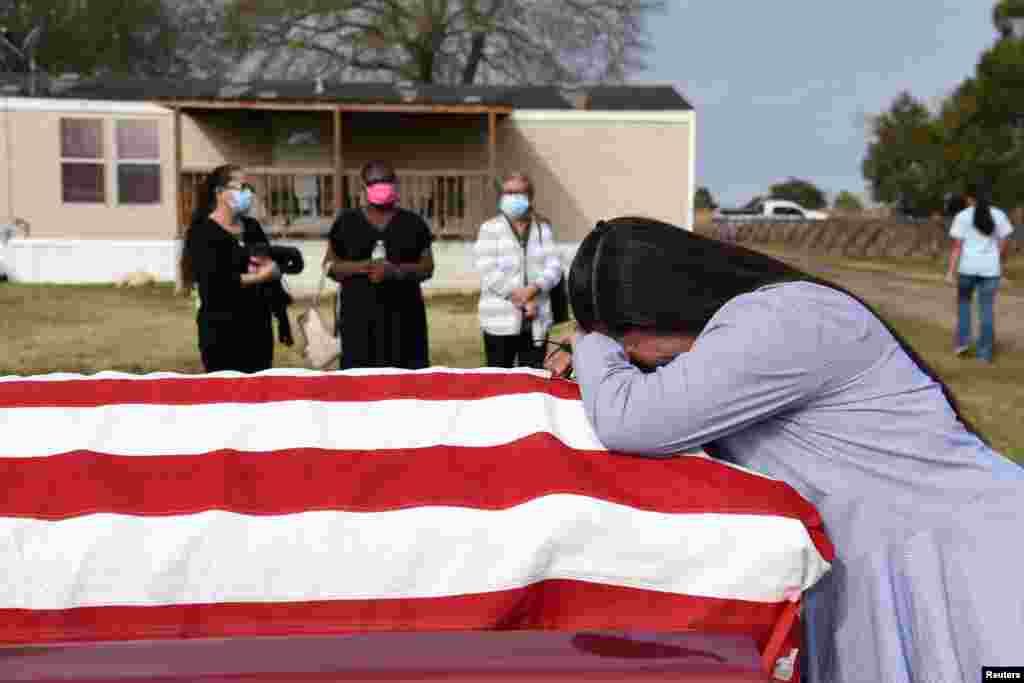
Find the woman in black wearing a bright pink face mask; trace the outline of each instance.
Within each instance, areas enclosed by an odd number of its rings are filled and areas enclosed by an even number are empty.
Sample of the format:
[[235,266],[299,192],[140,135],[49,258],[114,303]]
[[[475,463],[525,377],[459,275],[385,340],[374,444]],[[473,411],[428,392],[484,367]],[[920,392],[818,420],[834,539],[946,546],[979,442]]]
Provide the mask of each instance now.
[[389,164],[370,162],[361,176],[367,206],[338,215],[325,258],[330,276],[344,289],[341,369],[427,368],[420,283],[434,272],[433,234],[420,216],[398,206]]

